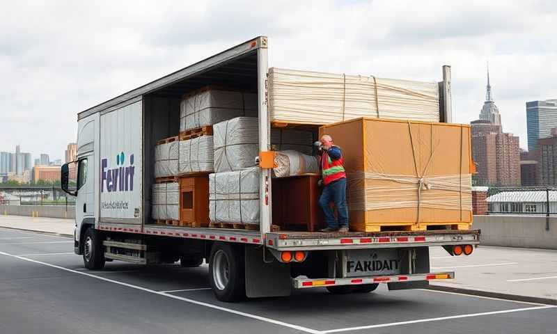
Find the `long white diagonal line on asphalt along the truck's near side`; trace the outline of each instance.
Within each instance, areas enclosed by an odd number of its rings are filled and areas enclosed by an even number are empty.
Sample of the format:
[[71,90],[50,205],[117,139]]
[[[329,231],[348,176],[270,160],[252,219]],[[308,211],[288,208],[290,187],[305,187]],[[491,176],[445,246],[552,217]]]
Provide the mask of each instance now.
[[298,326],[298,325],[295,325],[295,324],[288,324],[287,322],[278,321],[278,320],[274,320],[274,319],[270,319],[270,318],[266,318],[266,317],[261,317],[259,315],[252,315],[251,313],[240,312],[240,311],[237,311],[237,310],[233,310],[231,308],[224,308],[222,306],[213,305],[213,304],[210,304],[210,303],[205,303],[203,301],[196,301],[194,299],[189,299],[189,298],[185,298],[185,297],[176,296],[175,294],[165,294],[164,292],[159,292],[159,291],[156,291],[156,290],[148,289],[146,287],[139,287],[138,285],[132,285],[130,283],[118,282],[118,280],[111,280],[110,278],[104,278],[102,276],[96,276],[96,275],[93,275],[91,273],[84,273],[84,272],[81,272],[81,271],[56,266],[56,264],[49,264],[47,262],[40,262],[38,260],[33,260],[33,259],[29,259],[27,257],[21,257],[21,256],[9,254],[9,253],[4,253],[4,252],[0,252],[0,255],[15,257],[19,260],[24,260],[24,261],[28,261],[28,262],[34,262],[34,263],[42,264],[42,265],[45,265],[47,267],[52,267],[52,268],[60,269],[60,270],[63,270],[63,271],[69,271],[70,273],[77,273],[79,275],[84,275],[84,276],[88,276],[88,277],[91,277],[91,278],[96,278],[97,280],[104,280],[105,282],[114,283],[114,284],[117,284],[117,285],[122,285],[124,287],[131,287],[132,289],[138,289],[138,290],[141,290],[141,291],[144,291],[144,292],[149,292],[151,294],[157,294],[159,296],[165,296],[165,297],[171,298],[171,299],[178,299],[179,301],[186,301],[187,303],[192,303],[192,304],[196,304],[196,305],[205,306],[207,308],[213,308],[215,310],[221,310],[221,311],[224,311],[224,312],[229,312],[229,313],[232,313],[234,315],[240,315],[240,316],[246,317],[246,318],[265,321],[265,322],[268,322],[269,324],[275,324],[275,325],[278,325],[278,326],[288,327],[288,328],[295,329],[297,331],[303,331],[303,332],[311,333],[311,334],[323,334],[322,331],[317,331],[315,329],[307,328],[307,327],[304,327],[304,326]]

